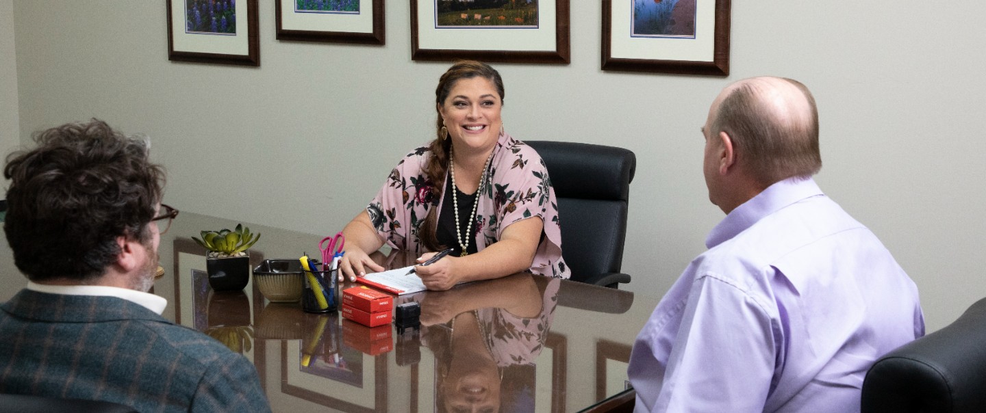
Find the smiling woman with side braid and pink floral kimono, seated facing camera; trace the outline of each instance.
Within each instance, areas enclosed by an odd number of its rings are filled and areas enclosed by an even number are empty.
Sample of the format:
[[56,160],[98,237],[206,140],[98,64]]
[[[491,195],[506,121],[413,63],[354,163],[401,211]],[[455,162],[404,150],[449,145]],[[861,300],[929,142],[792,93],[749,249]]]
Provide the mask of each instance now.
[[387,242],[424,253],[418,262],[455,250],[415,268],[431,290],[528,270],[569,277],[551,180],[537,153],[504,131],[504,96],[485,63],[459,61],[442,75],[435,139],[404,157],[343,230],[340,276],[383,270],[368,253]]

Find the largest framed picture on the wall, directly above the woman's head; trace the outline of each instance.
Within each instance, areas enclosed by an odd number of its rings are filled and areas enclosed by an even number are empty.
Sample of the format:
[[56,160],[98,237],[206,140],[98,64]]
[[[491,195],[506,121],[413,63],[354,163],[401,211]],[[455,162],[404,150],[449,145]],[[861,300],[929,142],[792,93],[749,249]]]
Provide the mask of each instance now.
[[411,60],[568,64],[569,0],[532,4],[446,11],[439,0],[411,0]]

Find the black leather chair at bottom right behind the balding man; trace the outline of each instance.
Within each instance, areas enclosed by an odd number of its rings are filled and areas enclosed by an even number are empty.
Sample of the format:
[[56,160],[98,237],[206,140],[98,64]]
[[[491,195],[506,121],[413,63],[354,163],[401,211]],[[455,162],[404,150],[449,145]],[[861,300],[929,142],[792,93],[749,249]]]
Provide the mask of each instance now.
[[986,299],[951,324],[880,358],[863,413],[986,412]]

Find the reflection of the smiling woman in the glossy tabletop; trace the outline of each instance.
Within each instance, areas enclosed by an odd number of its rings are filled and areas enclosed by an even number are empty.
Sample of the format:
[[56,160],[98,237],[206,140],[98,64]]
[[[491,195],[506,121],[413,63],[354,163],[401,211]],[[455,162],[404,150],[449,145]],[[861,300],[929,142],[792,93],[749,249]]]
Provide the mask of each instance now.
[[431,325],[422,341],[436,359],[437,411],[535,410],[534,360],[548,335],[559,283],[518,274],[423,294],[422,323]]

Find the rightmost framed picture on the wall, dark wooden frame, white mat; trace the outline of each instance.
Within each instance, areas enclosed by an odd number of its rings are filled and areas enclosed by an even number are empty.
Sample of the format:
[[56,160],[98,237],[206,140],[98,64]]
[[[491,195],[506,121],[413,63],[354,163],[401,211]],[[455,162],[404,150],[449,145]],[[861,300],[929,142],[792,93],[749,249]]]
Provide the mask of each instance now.
[[728,76],[730,7],[731,0],[602,0],[602,70]]

